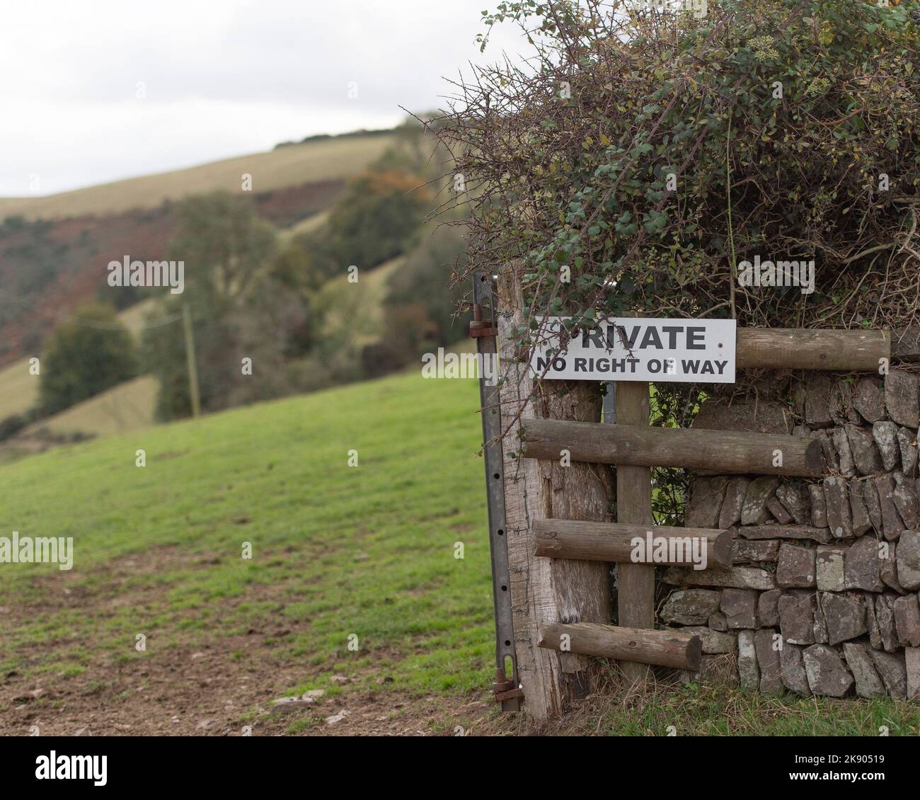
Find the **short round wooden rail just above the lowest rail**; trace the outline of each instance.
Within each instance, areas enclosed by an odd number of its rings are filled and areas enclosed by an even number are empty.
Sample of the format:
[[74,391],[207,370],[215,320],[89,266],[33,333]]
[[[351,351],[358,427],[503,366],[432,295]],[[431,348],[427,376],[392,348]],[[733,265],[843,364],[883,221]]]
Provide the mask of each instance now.
[[[687,566],[693,553],[692,539],[701,539],[696,553],[706,553],[707,566],[731,566],[731,531],[716,528],[670,528],[628,525],[616,522],[586,522],[577,519],[537,519],[534,523],[534,555],[575,561],[656,563]],[[649,559],[645,545],[666,548],[668,558]],[[633,558],[633,540],[639,539],[642,558]],[[673,560],[670,560],[673,558]]]

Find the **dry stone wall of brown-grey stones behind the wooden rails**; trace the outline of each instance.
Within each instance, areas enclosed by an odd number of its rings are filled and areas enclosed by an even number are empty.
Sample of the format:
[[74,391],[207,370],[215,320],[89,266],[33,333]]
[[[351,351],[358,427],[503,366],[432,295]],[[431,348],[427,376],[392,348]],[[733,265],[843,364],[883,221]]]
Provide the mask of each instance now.
[[826,471],[696,476],[685,524],[730,528],[733,563],[664,574],[661,622],[703,642],[686,678],[920,697],[918,397],[917,375],[892,369],[805,374],[785,401],[704,403],[700,427],[819,438]]

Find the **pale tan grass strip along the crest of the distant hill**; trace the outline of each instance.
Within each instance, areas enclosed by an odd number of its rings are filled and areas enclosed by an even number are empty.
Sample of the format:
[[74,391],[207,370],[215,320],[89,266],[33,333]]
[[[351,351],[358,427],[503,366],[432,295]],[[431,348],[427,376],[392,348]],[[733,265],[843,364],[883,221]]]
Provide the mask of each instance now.
[[178,200],[188,194],[218,189],[239,191],[244,173],[252,176],[254,192],[351,178],[382,156],[392,138],[373,135],[324,139],[47,197],[0,198],[0,219],[13,214],[50,219],[155,208],[164,200]]

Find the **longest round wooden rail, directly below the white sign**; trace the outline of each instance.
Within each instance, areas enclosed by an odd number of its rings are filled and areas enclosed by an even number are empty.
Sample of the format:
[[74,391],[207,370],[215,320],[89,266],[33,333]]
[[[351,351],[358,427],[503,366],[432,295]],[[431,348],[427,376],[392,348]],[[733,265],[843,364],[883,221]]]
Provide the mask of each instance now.
[[572,461],[598,464],[801,478],[823,474],[821,443],[802,436],[562,420],[523,420],[522,428],[524,458],[556,460],[568,450]]

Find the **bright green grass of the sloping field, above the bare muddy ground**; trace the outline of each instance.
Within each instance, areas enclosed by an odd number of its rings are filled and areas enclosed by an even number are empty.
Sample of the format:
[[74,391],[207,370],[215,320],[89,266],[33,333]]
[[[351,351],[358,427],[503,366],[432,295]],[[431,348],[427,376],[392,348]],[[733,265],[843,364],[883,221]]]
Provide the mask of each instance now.
[[[50,646],[25,668],[61,672],[100,654],[140,657],[136,632],[149,650],[268,626],[290,630],[282,657],[320,672],[420,692],[488,685],[476,409],[475,382],[412,374],[0,467],[0,529],[75,539],[71,574],[3,565],[0,605],[30,611],[4,636],[5,666],[36,641]],[[252,560],[241,558],[247,541]],[[62,582],[93,613],[58,608]],[[125,593],[136,601],[118,602]],[[71,654],[77,643],[86,649]]]

